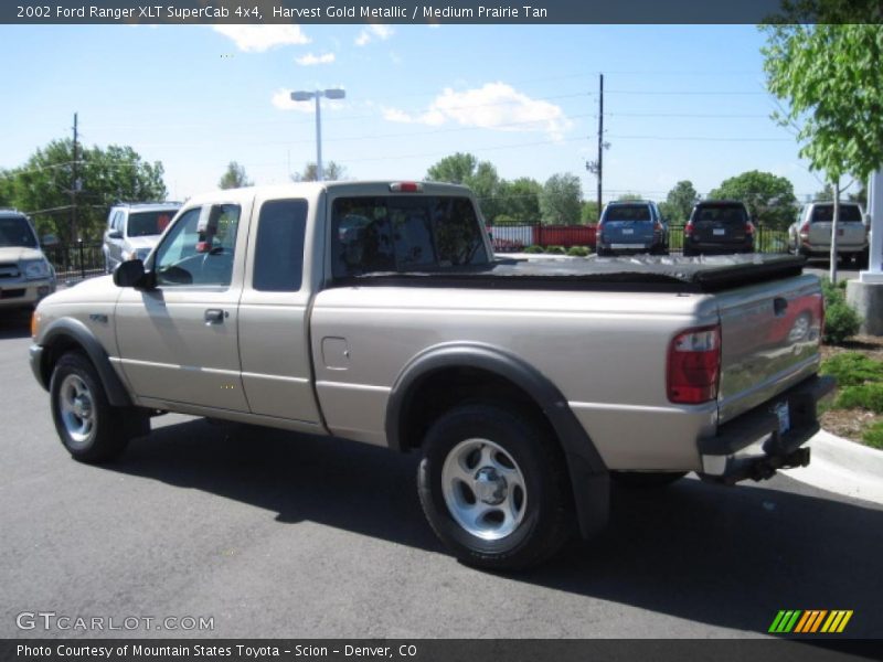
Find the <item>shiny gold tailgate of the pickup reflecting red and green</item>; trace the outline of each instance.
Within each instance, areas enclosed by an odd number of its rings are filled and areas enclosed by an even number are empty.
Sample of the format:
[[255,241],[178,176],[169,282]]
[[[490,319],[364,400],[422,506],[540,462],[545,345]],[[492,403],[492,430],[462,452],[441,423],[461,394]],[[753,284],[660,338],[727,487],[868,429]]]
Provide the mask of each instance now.
[[726,423],[813,374],[822,296],[816,276],[717,295],[721,318],[719,420]]

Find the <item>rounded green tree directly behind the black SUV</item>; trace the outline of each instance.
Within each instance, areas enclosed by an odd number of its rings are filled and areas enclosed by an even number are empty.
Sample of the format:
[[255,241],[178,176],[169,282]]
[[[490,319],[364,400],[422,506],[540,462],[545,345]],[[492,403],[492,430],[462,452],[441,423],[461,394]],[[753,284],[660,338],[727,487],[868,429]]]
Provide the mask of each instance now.
[[797,205],[791,182],[759,170],[731,177],[711,191],[708,199],[744,202],[755,223],[776,229],[790,225]]

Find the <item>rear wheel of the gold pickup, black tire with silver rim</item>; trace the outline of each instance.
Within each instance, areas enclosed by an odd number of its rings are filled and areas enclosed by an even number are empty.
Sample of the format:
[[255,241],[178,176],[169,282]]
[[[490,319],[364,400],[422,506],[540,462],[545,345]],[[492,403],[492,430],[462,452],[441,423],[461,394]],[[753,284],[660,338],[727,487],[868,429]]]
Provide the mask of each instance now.
[[[471,452],[469,445],[476,445]],[[458,458],[468,461],[471,457],[476,459],[472,467],[457,462]],[[456,479],[445,483],[446,462],[447,467],[459,467],[471,485]],[[489,471],[490,480],[498,480],[494,468],[509,480],[490,483],[494,490],[490,495],[485,482],[486,495],[480,498],[479,474]],[[436,420],[424,442],[417,487],[436,535],[462,563],[478,568],[518,570],[535,566],[555,554],[573,531],[573,499],[561,448],[544,426],[501,405],[461,405]],[[494,499],[504,501],[497,505]],[[450,508],[448,500],[454,504]],[[510,505],[518,515],[506,519],[503,511]],[[461,523],[462,519],[471,520],[471,514],[462,514],[469,508],[483,511],[475,515],[474,531]],[[494,535],[499,537],[492,538]]]

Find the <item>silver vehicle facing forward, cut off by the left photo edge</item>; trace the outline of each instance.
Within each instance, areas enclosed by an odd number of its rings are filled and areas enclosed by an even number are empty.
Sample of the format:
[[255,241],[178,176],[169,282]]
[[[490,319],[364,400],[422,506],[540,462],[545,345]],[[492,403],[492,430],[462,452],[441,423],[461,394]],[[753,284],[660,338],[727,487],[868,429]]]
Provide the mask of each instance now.
[[[57,244],[52,235],[43,246]],[[30,218],[0,210],[0,309],[29,308],[55,291],[55,269],[43,255]]]

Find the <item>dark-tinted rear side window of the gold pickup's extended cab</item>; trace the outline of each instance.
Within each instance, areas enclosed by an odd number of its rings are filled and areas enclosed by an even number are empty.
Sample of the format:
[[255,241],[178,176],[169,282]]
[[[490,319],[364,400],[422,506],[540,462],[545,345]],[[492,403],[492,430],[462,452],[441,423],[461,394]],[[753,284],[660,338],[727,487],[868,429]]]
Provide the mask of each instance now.
[[306,200],[273,200],[260,207],[253,287],[264,292],[296,292],[304,279]]

